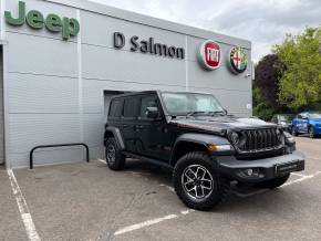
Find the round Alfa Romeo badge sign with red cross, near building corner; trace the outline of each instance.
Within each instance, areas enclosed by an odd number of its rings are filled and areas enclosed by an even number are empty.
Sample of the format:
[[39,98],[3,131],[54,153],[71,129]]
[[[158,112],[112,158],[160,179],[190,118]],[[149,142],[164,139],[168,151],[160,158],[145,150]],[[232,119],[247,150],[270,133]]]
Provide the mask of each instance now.
[[229,65],[234,73],[240,74],[247,70],[248,57],[244,49],[234,46],[229,52]]

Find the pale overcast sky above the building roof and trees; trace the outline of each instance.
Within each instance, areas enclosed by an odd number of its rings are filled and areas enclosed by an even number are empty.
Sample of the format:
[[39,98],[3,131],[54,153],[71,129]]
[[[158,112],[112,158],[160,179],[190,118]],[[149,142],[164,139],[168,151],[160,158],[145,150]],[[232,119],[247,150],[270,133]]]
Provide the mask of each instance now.
[[252,42],[258,61],[286,33],[321,24],[321,0],[92,0]]

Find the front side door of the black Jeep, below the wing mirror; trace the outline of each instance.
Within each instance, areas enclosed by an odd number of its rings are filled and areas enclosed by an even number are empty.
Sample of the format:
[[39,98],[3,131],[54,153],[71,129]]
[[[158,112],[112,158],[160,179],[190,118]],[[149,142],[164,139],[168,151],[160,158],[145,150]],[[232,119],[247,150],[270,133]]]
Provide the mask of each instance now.
[[[168,161],[170,157],[170,133],[156,94],[141,96],[139,113],[136,122],[136,147],[141,155]],[[147,117],[147,107],[157,107],[159,117]]]

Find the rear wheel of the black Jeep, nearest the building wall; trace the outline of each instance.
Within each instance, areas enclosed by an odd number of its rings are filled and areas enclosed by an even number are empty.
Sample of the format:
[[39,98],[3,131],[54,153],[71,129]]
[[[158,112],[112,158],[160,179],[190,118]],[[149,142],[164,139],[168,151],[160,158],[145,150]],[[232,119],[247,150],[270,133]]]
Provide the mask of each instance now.
[[114,137],[111,137],[106,142],[106,163],[112,170],[123,170],[125,168],[125,155],[123,155],[116,144]]

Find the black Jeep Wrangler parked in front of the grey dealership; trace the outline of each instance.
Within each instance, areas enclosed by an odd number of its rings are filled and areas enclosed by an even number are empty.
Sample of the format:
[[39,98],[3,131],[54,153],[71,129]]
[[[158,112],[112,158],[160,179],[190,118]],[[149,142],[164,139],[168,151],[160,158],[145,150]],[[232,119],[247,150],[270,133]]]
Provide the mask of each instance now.
[[293,137],[275,124],[228,115],[210,94],[148,91],[112,98],[104,144],[113,170],[126,157],[173,169],[194,209],[218,205],[230,182],[277,188],[304,169]]

